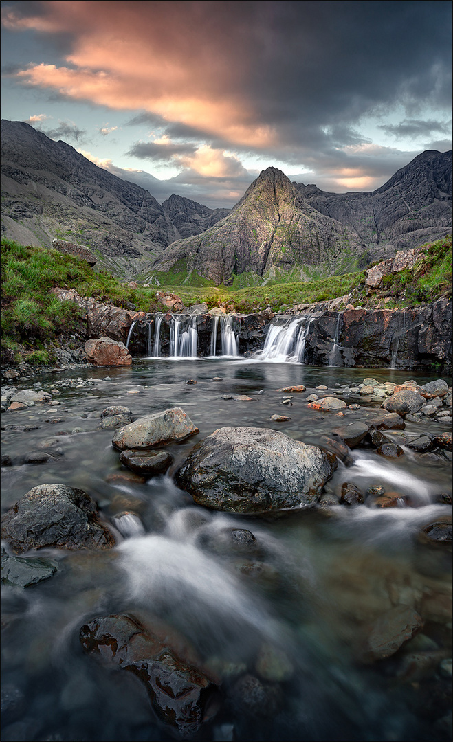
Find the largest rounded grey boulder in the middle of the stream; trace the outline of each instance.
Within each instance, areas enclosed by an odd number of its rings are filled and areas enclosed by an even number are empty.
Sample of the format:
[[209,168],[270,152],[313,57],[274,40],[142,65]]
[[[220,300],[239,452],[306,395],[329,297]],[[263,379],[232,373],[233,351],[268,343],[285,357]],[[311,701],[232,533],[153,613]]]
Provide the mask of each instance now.
[[177,485],[198,505],[266,513],[317,502],[336,457],[268,428],[222,427],[195,447]]

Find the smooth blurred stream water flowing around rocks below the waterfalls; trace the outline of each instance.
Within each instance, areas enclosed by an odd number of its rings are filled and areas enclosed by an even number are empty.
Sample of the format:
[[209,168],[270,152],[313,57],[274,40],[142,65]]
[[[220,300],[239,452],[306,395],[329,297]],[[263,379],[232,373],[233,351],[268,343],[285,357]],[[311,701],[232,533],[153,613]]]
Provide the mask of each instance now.
[[[426,712],[423,683],[399,678],[392,671],[394,660],[365,665],[359,657],[367,627],[392,605],[413,605],[414,596],[434,600],[437,594],[449,594],[446,551],[417,539],[423,525],[451,512],[434,502],[437,493],[451,491],[449,462],[420,463],[407,453],[389,463],[376,453],[354,450],[353,463],[339,464],[327,491],[336,491],[345,480],[362,490],[383,483],[402,497],[409,494],[416,507],[337,507],[330,516],[319,510],[266,518],[217,513],[195,505],[172,480],[192,447],[218,427],[272,427],[309,444],[322,442],[333,427],[359,420],[364,408],[338,418],[308,409],[298,394],[287,407],[281,401],[288,395],[278,389],[304,384],[314,390],[325,384],[338,393],[365,376],[397,383],[437,378],[243,358],[134,359],[129,368],[33,378],[46,390],[71,378],[95,381],[80,388],[57,387],[62,392],[59,407],[35,406],[2,416],[2,424],[39,426],[29,432],[3,431],[2,453],[18,456],[59,447],[63,454],[39,466],[5,467],[2,511],[42,483],[81,487],[97,500],[117,545],[99,553],[41,550],[40,555],[59,561],[50,580],[25,589],[2,587],[2,683],[6,688],[12,683],[23,694],[22,715],[13,723],[3,722],[2,740],[177,739],[157,722],[136,677],[107,669],[82,651],[79,628],[113,613],[131,614],[146,626],[158,621],[177,631],[206,667],[220,674],[227,691],[238,674],[256,674],[263,646],[283,652],[277,670],[283,690],[278,712],[253,716],[227,704],[196,739],[447,738],[443,726],[436,726]],[[189,379],[197,384],[186,384]],[[222,398],[244,394],[251,401]],[[359,397],[347,401],[363,404]],[[111,404],[130,407],[134,416],[180,406],[200,433],[169,446],[175,462],[166,476],[143,485],[108,481],[126,471],[111,446],[112,431],[94,430],[96,413]],[[290,421],[270,421],[275,413],[290,416]],[[51,424],[45,422],[48,418],[61,421]],[[75,427],[83,432],[62,435]],[[408,423],[405,430],[415,432],[417,427]],[[428,430],[441,433],[443,427],[431,422]],[[238,554],[210,547],[226,526],[255,534],[259,574],[241,568],[244,559]],[[451,623],[442,615],[424,628],[427,640],[440,649],[451,646],[450,631]]]

